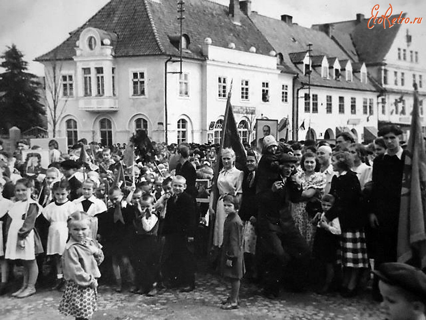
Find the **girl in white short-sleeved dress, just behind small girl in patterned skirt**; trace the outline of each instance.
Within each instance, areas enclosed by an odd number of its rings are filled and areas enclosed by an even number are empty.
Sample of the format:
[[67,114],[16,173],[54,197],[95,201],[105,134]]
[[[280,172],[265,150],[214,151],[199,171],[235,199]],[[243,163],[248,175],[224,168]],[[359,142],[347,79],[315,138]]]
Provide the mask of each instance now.
[[67,220],[77,211],[77,206],[68,199],[70,185],[67,180],[55,182],[52,194],[54,202],[43,209],[43,215],[50,223],[46,254],[54,259],[56,266],[57,280],[53,290],[61,290],[65,285],[61,257],[68,240]]

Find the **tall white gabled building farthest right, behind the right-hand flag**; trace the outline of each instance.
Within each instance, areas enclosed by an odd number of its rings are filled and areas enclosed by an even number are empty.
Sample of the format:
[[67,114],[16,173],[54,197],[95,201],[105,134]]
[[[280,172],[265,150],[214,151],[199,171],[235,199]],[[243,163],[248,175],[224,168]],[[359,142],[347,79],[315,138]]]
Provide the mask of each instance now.
[[[391,16],[389,20],[399,16]],[[402,14],[404,20],[408,16]],[[368,73],[381,87],[377,108],[379,127],[398,124],[406,139],[413,108],[413,82],[418,85],[421,121],[423,127],[426,125],[423,108],[426,97],[425,28],[417,22],[369,28],[368,21],[363,14],[356,14],[355,20],[312,27],[324,31],[339,47],[355,53],[365,62]]]

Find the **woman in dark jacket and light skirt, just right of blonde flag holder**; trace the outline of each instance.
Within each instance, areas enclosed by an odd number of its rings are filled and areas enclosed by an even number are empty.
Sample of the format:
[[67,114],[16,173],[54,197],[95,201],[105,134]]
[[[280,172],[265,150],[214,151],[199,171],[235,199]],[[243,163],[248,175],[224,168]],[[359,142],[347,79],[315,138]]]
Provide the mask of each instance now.
[[256,169],[258,167],[259,153],[255,150],[247,151],[247,169],[244,173],[242,182],[242,198],[239,216],[244,223],[244,261],[247,268],[247,276],[255,277],[255,260],[257,235],[255,232],[255,224],[257,217],[257,202],[256,202]]

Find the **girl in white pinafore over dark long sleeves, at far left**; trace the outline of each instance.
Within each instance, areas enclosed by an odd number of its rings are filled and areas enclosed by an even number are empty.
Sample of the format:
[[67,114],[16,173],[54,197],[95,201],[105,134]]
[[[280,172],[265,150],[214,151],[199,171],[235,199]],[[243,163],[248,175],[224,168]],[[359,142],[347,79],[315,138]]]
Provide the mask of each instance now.
[[[34,223],[41,213],[40,205],[31,199],[33,185],[28,179],[19,179],[15,185],[16,202],[8,211],[12,219],[7,235],[5,258],[22,260],[24,265],[24,282],[12,296],[24,298],[36,293],[35,283],[39,273],[35,260],[36,245]],[[40,241],[40,239],[38,239]]]

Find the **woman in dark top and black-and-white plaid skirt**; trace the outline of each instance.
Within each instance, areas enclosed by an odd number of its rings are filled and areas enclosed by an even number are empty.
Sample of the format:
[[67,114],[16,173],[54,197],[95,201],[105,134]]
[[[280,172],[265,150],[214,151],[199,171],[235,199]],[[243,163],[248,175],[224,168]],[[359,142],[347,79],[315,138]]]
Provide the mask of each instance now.
[[347,151],[333,154],[333,170],[337,172],[331,180],[330,194],[335,197],[342,229],[338,263],[343,268],[342,296],[356,295],[356,284],[362,269],[368,268],[364,219],[361,212],[361,186],[356,173],[350,168],[353,158]]

